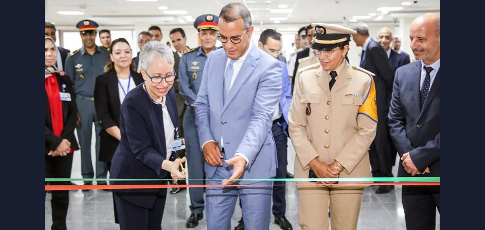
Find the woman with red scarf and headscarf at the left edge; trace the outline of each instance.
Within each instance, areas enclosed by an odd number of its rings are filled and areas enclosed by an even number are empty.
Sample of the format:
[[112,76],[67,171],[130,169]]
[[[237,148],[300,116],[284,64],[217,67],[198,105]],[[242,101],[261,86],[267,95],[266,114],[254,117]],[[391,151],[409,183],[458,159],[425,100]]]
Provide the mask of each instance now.
[[[71,176],[72,153],[79,150],[74,136],[76,126],[76,102],[71,80],[56,67],[57,48],[54,39],[46,37],[45,71],[45,160],[46,178],[69,178]],[[50,184],[70,184],[50,182]],[[65,230],[69,191],[52,191],[52,229]]]

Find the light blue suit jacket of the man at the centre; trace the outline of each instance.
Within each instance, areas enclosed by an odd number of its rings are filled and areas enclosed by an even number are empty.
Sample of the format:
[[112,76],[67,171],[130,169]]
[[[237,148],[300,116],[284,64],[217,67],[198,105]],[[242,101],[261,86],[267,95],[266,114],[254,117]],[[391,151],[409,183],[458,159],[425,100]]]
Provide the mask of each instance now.
[[[277,59],[254,44],[250,49],[225,103],[228,57],[224,49],[210,53],[195,101],[195,123],[201,147],[210,140],[219,142],[223,136],[226,160],[236,153],[247,157],[242,179],[272,178],[277,164],[271,126],[281,95],[282,69]],[[205,163],[207,178],[212,178],[217,168]]]

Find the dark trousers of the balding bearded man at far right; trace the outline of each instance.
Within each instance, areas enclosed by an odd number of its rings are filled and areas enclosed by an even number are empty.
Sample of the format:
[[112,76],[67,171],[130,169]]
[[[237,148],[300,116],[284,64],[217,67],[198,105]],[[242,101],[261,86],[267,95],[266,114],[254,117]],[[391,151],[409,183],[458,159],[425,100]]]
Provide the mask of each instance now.
[[439,186],[403,186],[406,229],[434,230],[439,212]]

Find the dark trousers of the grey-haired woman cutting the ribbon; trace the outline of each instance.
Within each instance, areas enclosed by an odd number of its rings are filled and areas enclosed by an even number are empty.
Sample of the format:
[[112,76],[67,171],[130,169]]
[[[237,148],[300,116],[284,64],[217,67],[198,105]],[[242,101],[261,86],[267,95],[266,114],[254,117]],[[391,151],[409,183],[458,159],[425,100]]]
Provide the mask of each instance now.
[[120,220],[120,230],[162,230],[162,217],[167,198],[167,189],[161,188],[153,208],[132,204],[116,193],[116,209]]

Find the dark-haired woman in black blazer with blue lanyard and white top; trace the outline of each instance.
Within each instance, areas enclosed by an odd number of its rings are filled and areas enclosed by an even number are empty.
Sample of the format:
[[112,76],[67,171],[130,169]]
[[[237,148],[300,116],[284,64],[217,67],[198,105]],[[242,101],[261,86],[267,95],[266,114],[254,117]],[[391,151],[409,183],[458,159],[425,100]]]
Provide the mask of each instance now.
[[[106,162],[108,170],[121,139],[120,106],[129,91],[143,82],[135,71],[128,41],[119,38],[111,43],[110,58],[105,73],[96,78],[94,105],[101,125],[99,161]],[[115,223],[119,223],[115,206]]]

